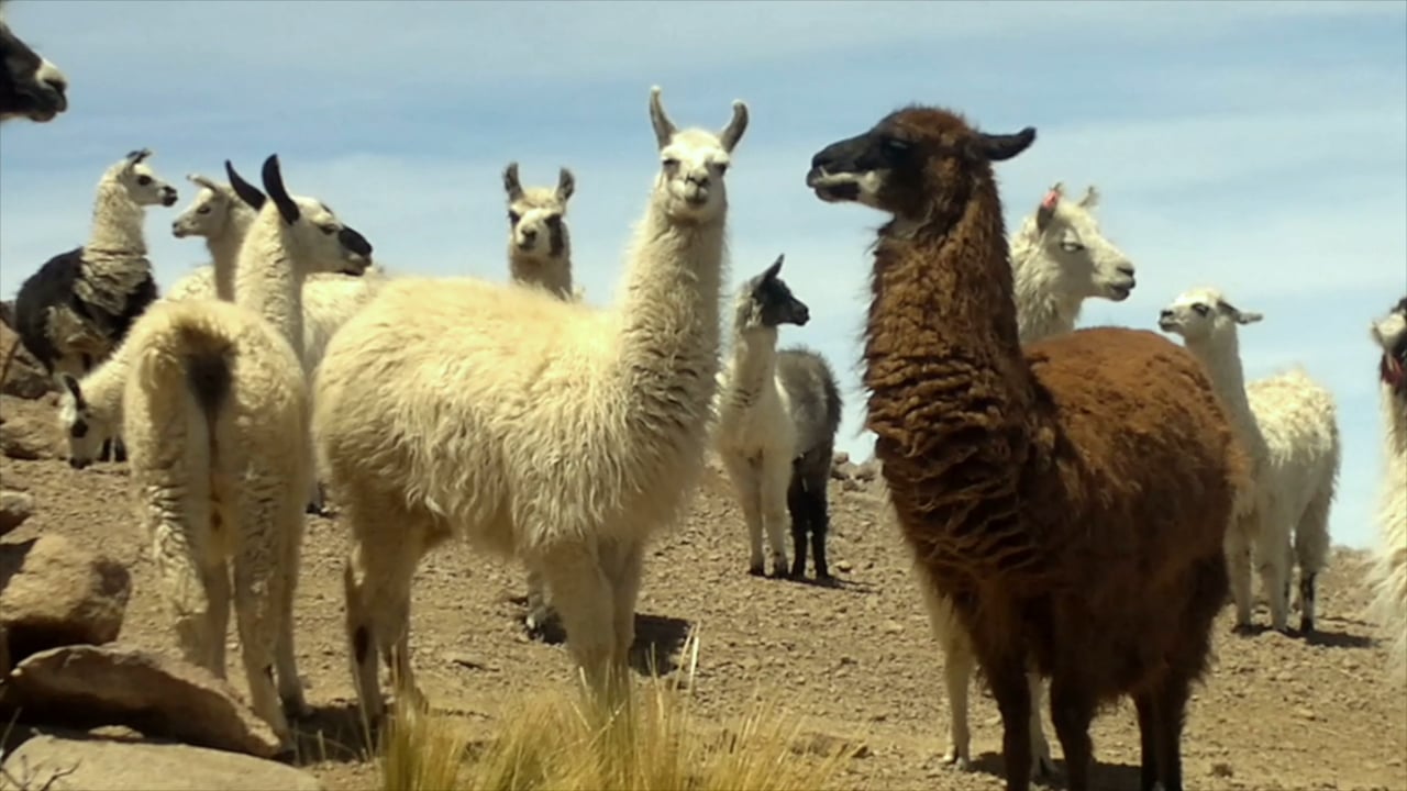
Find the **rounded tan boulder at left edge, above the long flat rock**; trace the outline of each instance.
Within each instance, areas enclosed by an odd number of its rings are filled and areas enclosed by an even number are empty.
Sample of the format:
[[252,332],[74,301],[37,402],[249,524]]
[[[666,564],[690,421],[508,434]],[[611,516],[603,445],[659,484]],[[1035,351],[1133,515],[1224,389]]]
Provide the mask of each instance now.
[[58,533],[0,545],[0,625],[10,632],[14,662],[56,646],[115,640],[131,591],[121,563]]

